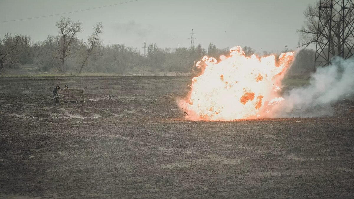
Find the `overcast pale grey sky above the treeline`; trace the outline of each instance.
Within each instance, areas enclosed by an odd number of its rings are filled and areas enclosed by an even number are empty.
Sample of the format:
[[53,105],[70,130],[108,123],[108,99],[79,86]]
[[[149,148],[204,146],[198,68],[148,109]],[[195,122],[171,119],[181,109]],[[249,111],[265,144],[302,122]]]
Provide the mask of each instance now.
[[[126,2],[130,0],[0,0],[0,21],[52,15]],[[190,46],[207,49],[251,46],[258,52],[295,49],[296,30],[304,22],[303,11],[316,0],[139,0],[127,4],[75,12],[63,16],[82,21],[86,39],[97,22],[104,25],[105,44],[125,43],[142,51],[143,42],[159,47]],[[0,35],[16,33],[42,41],[56,35],[60,16],[0,23]]]

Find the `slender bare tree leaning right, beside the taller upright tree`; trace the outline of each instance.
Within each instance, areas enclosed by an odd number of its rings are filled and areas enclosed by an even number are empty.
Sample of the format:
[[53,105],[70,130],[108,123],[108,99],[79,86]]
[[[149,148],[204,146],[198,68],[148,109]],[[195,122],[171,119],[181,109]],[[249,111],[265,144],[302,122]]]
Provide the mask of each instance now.
[[89,48],[87,49],[84,55],[84,61],[82,61],[82,64],[79,68],[79,74],[82,72],[82,69],[85,67],[87,61],[89,60],[89,57],[91,55],[94,55],[95,50],[101,47],[101,39],[99,38],[99,35],[102,34],[102,29],[103,29],[102,22],[97,23],[95,27],[93,27],[93,32],[87,39]]

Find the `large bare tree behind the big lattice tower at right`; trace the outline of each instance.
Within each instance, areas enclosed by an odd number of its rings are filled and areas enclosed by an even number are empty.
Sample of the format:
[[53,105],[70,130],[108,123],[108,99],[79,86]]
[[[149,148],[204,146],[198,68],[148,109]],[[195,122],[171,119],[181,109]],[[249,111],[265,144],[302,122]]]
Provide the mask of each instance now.
[[[328,1],[328,6],[330,6],[330,2]],[[327,45],[331,49],[331,53],[333,55],[339,55],[342,52],[342,44],[341,44],[341,27],[343,23],[343,19],[341,15],[336,14],[336,12],[330,12],[329,10],[322,10],[320,16],[320,2],[317,1],[316,5],[308,5],[305,15],[305,23],[302,28],[297,32],[300,33],[301,43],[299,46],[308,47],[310,44],[315,44],[319,42],[322,45]],[[324,29],[318,29],[319,17],[321,17],[321,21],[329,21],[329,16],[332,15],[332,23],[331,30],[327,25]],[[354,13],[348,12],[346,14],[346,21],[348,24],[354,23]],[[347,36],[344,38],[346,42],[353,44],[354,37],[352,34],[346,34]],[[328,44],[328,40],[331,38],[331,43]],[[330,45],[330,46],[329,46]],[[335,48],[336,47],[336,48]]]

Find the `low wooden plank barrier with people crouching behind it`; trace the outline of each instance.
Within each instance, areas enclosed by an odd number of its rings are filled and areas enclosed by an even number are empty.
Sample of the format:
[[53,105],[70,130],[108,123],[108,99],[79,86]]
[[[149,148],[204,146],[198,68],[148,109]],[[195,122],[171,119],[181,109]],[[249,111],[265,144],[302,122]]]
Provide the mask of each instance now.
[[58,89],[60,103],[85,102],[84,89]]

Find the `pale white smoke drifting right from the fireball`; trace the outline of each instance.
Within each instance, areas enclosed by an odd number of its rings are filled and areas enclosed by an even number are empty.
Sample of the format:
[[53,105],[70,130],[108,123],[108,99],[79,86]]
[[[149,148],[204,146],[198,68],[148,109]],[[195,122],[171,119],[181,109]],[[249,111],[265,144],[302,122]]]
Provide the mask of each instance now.
[[310,84],[284,94],[273,109],[276,117],[314,117],[333,114],[331,103],[354,93],[354,59],[335,58],[330,66],[319,67]]

